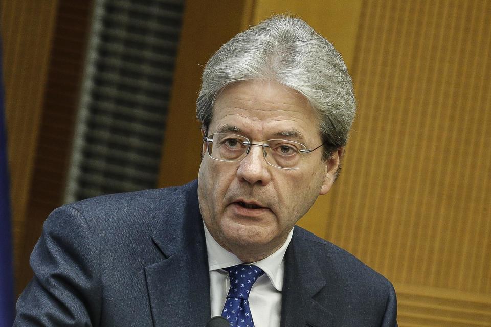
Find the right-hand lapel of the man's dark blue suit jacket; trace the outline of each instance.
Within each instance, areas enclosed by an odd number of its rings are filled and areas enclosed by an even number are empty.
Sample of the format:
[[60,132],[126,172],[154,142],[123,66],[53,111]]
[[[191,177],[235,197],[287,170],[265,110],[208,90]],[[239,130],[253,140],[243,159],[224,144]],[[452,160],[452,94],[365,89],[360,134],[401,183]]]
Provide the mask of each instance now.
[[281,327],[327,327],[332,313],[313,298],[326,285],[315,256],[295,228],[285,253]]

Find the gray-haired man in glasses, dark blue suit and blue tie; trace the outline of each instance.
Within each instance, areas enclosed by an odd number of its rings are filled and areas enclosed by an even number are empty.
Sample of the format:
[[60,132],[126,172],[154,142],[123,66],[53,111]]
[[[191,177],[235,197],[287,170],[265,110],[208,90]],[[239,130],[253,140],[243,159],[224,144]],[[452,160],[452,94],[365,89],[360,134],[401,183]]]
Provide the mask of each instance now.
[[14,325],[396,326],[390,282],[295,226],[354,111],[341,56],[304,21],[238,34],[203,73],[198,180],[55,210]]

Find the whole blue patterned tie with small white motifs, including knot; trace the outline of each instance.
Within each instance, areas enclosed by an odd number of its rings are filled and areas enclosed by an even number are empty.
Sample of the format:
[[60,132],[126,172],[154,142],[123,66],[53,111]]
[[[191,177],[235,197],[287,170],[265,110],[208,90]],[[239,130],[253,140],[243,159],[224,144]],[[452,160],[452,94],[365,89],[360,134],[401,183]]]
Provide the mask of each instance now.
[[229,272],[230,289],[221,316],[230,322],[231,327],[254,327],[249,308],[249,293],[264,271],[252,265],[237,265],[225,270]]

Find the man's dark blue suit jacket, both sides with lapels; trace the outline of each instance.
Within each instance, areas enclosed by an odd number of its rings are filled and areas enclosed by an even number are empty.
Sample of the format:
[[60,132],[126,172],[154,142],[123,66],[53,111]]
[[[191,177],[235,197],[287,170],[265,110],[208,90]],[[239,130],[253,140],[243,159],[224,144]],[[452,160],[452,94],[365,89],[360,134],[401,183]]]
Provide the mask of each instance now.
[[[14,326],[205,326],[210,285],[197,182],[56,209],[31,256]],[[295,227],[281,326],[396,326],[395,292],[351,254]]]

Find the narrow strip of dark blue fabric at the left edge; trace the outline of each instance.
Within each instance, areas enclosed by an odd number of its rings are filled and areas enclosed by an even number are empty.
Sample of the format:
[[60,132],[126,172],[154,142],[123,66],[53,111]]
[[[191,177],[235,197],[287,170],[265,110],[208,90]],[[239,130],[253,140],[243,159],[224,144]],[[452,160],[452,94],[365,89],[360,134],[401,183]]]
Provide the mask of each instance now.
[[14,290],[9,173],[7,168],[7,132],[5,128],[4,87],[1,63],[2,48],[0,48],[0,327],[4,327],[11,326],[14,321]]

